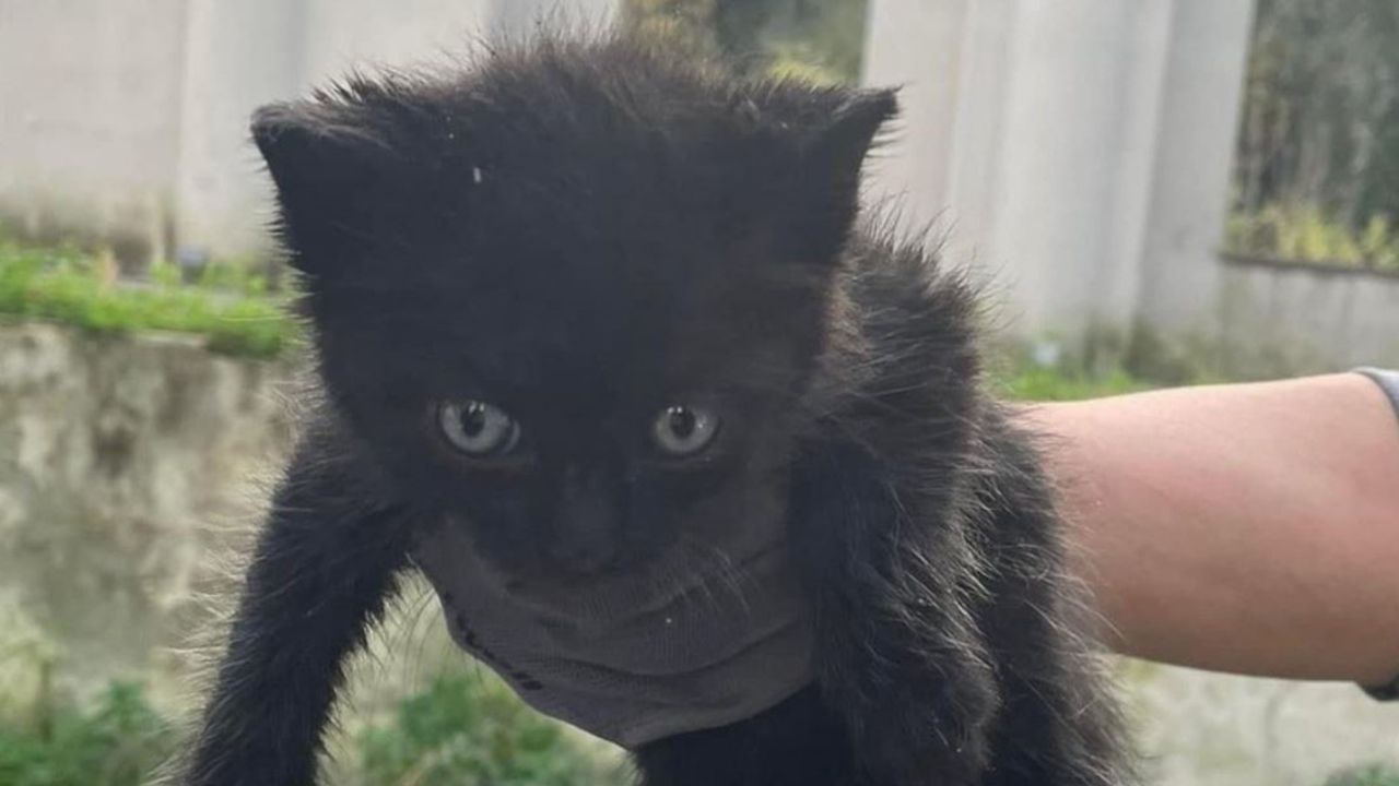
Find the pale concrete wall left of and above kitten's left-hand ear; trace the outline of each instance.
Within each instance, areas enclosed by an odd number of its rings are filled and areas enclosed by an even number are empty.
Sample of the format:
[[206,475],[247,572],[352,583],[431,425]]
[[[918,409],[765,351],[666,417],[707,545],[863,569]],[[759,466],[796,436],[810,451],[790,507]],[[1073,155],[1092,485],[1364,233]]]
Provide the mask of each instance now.
[[[264,248],[257,105],[614,0],[0,0],[0,220],[123,257]],[[130,246],[130,248],[127,248]]]

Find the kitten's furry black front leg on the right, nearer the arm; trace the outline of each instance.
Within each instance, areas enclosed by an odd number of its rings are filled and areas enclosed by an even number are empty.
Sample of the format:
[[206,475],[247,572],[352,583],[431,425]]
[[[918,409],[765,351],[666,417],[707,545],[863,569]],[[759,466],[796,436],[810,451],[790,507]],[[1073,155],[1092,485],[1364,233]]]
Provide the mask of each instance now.
[[923,490],[855,448],[804,462],[792,501],[817,681],[870,783],[978,783],[997,688],[960,526],[930,520]]

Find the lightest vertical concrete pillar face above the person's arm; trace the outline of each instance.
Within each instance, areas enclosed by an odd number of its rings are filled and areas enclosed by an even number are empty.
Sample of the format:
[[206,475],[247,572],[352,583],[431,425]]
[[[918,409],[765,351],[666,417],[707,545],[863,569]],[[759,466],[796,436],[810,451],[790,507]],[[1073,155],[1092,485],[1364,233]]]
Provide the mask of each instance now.
[[[1081,334],[1108,305],[1137,0],[1021,3],[1013,17],[985,260],[1037,333]],[[961,151],[958,151],[961,152]],[[958,206],[953,206],[954,213]]]

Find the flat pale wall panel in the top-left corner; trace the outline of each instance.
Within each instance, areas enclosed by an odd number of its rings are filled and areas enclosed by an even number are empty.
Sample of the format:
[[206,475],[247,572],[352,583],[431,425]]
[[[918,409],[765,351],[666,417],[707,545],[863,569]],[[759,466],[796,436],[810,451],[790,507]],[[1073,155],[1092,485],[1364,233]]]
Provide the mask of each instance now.
[[159,245],[185,3],[0,0],[0,220]]

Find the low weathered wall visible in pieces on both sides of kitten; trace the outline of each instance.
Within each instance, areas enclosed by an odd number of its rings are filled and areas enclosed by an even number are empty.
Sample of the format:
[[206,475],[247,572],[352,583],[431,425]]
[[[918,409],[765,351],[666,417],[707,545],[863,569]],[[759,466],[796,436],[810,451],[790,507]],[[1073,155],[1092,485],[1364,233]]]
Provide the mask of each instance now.
[[[95,340],[0,326],[0,713],[32,689],[17,639],[62,650],[60,688],[152,680],[169,701],[207,617],[190,593],[207,524],[256,508],[249,481],[287,449],[288,368],[217,358],[187,340]],[[455,660],[429,597],[383,645],[358,709]],[[28,685],[25,677],[28,676]],[[1161,786],[1321,786],[1364,761],[1399,762],[1399,706],[1351,685],[1209,676],[1133,663],[1133,716]],[[10,695],[7,695],[10,694]]]

